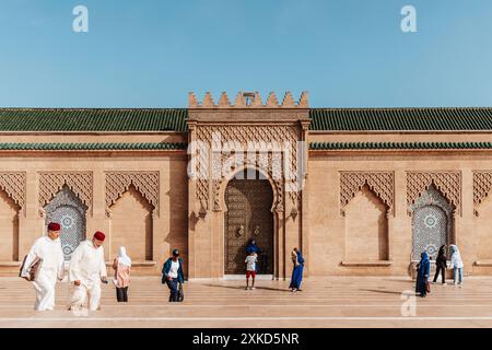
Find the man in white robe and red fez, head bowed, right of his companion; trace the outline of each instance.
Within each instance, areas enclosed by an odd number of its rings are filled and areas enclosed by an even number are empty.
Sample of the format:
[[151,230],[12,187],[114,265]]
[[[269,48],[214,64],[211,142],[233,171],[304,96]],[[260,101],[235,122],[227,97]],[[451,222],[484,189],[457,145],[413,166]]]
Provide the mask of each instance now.
[[70,282],[73,283],[70,310],[83,307],[89,295],[89,310],[99,308],[101,282],[107,283],[104,261],[104,233],[97,231],[92,240],[82,242],[70,260]]

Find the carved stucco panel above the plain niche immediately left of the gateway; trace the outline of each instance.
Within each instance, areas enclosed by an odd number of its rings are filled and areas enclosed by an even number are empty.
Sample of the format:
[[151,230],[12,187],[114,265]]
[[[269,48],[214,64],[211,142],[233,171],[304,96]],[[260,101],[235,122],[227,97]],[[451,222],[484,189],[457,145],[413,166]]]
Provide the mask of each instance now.
[[159,211],[159,172],[108,172],[106,173],[106,214],[128,189],[134,188]]

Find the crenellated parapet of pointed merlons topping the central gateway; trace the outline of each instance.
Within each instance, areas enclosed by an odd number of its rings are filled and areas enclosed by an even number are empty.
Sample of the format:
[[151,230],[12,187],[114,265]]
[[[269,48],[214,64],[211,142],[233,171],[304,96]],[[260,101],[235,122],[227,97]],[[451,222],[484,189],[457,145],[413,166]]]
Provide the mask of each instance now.
[[207,92],[201,104],[197,95],[190,92],[188,95],[188,108],[309,108],[308,93],[303,92],[297,102],[294,101],[291,92],[286,92],[282,103],[279,103],[277,94],[271,92],[266,102],[261,100],[259,92],[255,93],[237,93],[234,103],[231,103],[227,94],[223,92],[215,104],[213,96]]

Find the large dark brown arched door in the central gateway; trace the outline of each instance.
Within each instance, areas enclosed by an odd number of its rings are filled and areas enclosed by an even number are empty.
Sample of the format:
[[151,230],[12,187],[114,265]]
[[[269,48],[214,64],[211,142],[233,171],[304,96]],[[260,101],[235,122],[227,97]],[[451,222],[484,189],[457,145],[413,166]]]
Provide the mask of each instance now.
[[[239,175],[243,174],[239,173]],[[246,172],[244,173],[246,174]],[[256,240],[259,272],[273,273],[273,192],[268,179],[261,179],[256,172],[255,179],[236,175],[225,189],[225,273],[243,275],[249,240]]]

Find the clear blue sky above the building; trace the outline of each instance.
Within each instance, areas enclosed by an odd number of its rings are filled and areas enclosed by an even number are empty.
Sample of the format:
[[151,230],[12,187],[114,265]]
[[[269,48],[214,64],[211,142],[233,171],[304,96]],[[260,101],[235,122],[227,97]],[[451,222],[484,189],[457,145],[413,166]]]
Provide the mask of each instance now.
[[[75,33],[75,5],[89,33]],[[401,8],[417,9],[403,33]],[[491,0],[0,0],[0,106],[492,106]]]

